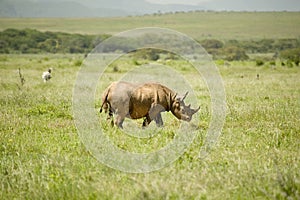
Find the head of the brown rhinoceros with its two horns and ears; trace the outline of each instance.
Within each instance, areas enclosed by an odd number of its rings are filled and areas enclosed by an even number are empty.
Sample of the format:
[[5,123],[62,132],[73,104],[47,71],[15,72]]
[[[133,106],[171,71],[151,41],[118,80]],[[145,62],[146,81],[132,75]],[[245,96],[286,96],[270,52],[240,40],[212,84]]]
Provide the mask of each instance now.
[[184,103],[184,99],[187,95],[188,92],[186,92],[183,97],[177,96],[177,94],[175,95],[171,107],[171,112],[178,119],[189,122],[192,120],[193,115],[200,110],[200,106],[197,109],[192,109],[190,104],[186,106]]

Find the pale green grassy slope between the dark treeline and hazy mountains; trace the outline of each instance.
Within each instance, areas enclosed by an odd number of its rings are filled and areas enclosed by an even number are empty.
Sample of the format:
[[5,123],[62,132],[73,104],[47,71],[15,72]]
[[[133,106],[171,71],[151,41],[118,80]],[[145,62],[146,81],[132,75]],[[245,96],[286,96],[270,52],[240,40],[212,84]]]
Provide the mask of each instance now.
[[[115,34],[133,28],[162,27],[195,39],[299,38],[299,12],[194,12],[116,18],[1,18],[0,30],[34,28],[83,34]],[[113,26],[112,26],[113,25]]]

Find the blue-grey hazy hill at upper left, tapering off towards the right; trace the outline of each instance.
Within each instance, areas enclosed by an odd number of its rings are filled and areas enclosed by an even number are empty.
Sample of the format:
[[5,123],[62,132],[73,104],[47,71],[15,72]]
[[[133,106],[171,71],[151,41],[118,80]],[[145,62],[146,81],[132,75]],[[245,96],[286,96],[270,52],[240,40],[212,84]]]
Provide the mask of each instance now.
[[144,0],[0,0],[0,17],[118,17],[196,9]]

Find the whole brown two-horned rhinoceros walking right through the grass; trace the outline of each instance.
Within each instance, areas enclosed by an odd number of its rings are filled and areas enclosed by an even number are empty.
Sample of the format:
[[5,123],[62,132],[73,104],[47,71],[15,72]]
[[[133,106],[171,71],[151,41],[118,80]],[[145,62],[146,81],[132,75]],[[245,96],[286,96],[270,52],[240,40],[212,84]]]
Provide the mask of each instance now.
[[[184,103],[188,92],[184,96],[159,83],[133,84],[125,81],[113,82],[102,95],[100,113],[108,112],[107,119],[111,124],[123,128],[125,118],[144,118],[143,127],[148,126],[152,120],[157,126],[163,125],[161,112],[171,111],[179,120],[191,121],[192,116],[199,108],[192,109]],[[115,122],[113,114],[116,114]]]

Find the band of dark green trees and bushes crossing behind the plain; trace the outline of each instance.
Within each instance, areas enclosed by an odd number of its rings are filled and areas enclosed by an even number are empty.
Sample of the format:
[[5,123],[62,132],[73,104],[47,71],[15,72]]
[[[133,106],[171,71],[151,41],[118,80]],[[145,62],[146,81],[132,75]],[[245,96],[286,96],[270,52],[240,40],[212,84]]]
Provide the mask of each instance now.
[[[0,32],[0,53],[89,53],[104,39],[110,35],[81,35],[62,32],[40,32],[33,29],[7,29]],[[145,40],[153,43],[161,43],[171,40],[176,48],[177,42],[174,38],[163,39],[147,35]],[[105,46],[104,52],[128,51],[137,45],[130,39],[116,39],[109,46]],[[228,61],[247,60],[250,54],[273,53],[273,59],[283,59],[299,65],[300,60],[300,40],[299,39],[261,39],[261,40],[228,40],[220,41],[216,39],[206,39],[198,41],[213,59],[223,59]],[[137,45],[138,46],[138,45]],[[182,47],[181,47],[182,48]],[[184,47],[185,52],[192,52],[193,47],[189,44]],[[141,51],[141,58],[159,59],[159,50]],[[141,55],[147,54],[147,55]]]

